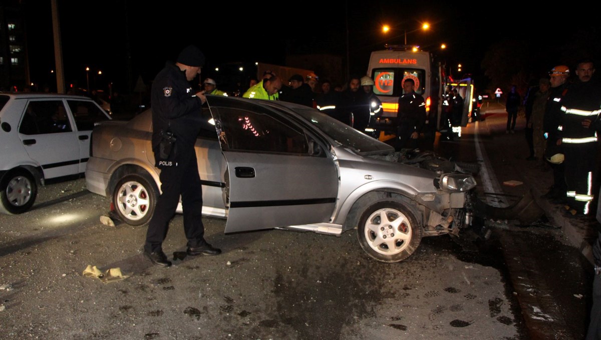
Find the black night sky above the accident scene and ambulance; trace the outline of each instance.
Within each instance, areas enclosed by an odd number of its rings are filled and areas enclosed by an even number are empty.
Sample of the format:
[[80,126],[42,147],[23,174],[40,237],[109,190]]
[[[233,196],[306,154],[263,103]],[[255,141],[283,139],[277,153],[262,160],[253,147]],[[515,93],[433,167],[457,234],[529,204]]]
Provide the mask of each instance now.
[[[23,3],[32,81],[52,81],[50,0]],[[188,44],[203,50],[207,66],[230,61],[284,64],[286,53],[344,57],[347,20],[351,73],[364,74],[370,52],[385,43],[403,43],[402,29],[407,29],[408,44],[435,50],[446,43],[448,48],[441,53],[448,64],[461,63],[466,73],[483,78],[480,62],[491,44],[508,38],[527,40],[542,55],[542,69],[548,70],[557,64],[557,49],[573,31],[569,28],[575,27],[565,13],[563,22],[553,26],[560,20],[552,6],[545,6],[548,12],[542,13],[519,7],[520,2],[503,2],[495,8],[492,2],[465,7],[449,1],[348,5],[299,1],[281,2],[281,9],[278,2],[58,0],[58,4],[66,82],[79,82],[81,87],[85,68],[90,67],[90,76],[99,77],[90,82],[110,80],[115,88],[123,88],[128,64],[134,81],[141,76],[149,83],[165,61],[175,59]],[[419,31],[421,22],[430,23],[430,31]],[[380,31],[383,23],[396,33],[385,37]],[[96,76],[97,70],[102,76]]]

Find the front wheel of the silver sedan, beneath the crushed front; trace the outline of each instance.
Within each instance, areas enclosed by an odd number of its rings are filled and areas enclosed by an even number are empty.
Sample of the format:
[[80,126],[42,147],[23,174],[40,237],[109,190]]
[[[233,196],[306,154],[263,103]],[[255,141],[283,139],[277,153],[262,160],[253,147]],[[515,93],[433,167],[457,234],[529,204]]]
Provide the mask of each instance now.
[[402,261],[413,254],[422,235],[422,226],[399,201],[379,201],[367,207],[357,228],[361,248],[376,260],[388,263]]

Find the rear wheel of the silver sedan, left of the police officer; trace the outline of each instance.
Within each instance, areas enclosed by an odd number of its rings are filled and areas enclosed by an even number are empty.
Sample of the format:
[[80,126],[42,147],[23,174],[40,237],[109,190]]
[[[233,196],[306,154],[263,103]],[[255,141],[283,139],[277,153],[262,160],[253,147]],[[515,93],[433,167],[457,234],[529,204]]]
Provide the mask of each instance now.
[[113,191],[115,212],[129,225],[144,225],[154,213],[158,192],[147,174],[128,174]]

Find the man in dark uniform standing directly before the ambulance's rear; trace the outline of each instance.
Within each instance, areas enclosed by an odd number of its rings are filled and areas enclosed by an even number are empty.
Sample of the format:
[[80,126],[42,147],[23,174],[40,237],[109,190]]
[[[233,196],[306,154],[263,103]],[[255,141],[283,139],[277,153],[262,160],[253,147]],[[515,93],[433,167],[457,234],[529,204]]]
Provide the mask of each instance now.
[[403,91],[404,94],[398,98],[397,151],[417,148],[419,133],[426,124],[426,101],[415,92],[413,79],[403,80]]

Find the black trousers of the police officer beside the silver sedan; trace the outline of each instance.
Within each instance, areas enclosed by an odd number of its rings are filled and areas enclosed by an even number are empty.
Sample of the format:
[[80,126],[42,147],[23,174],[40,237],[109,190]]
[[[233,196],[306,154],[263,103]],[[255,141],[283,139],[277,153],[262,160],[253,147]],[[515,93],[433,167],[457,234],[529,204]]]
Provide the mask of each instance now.
[[203,187],[198,174],[197,158],[194,151],[188,160],[178,162],[176,167],[166,167],[160,171],[160,194],[154,215],[148,224],[144,250],[162,251],[163,240],[169,230],[169,221],[175,214],[182,195],[184,231],[189,247],[206,245],[204,240]]

